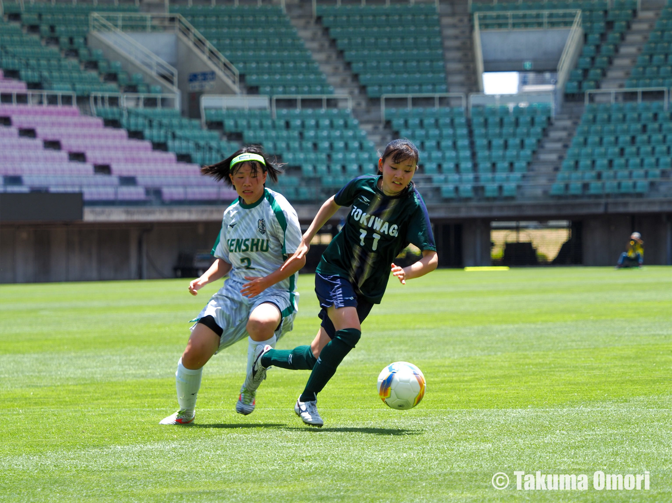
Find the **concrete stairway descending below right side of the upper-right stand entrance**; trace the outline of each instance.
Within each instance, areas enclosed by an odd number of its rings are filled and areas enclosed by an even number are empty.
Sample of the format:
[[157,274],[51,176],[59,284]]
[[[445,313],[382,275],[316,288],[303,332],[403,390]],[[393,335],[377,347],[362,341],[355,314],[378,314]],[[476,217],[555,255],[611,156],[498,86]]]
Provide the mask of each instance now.
[[556,116],[551,118],[539,150],[532,158],[526,177],[528,184],[520,188],[519,197],[532,199],[548,195],[551,184],[556,179],[556,172],[560,169],[560,163],[576,134],[582,114],[582,102],[565,101],[562,113],[556,113]]

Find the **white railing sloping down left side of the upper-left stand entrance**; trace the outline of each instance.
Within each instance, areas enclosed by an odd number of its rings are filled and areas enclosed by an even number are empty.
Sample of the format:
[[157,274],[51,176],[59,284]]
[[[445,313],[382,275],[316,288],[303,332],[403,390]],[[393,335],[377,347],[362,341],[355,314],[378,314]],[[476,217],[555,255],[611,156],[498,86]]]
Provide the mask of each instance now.
[[[125,16],[124,14],[112,13],[113,15]],[[139,66],[147,68],[147,70],[155,75],[161,81],[166,81],[172,87],[177,87],[177,70],[163,59],[159,58],[151,50],[138,44],[133,38],[126,35],[118,26],[110,23],[106,17],[110,13],[92,12],[89,15],[89,30],[91,32],[100,32],[103,34],[111,34],[112,38],[103,37],[103,40],[122,50],[128,57],[132,58]]]

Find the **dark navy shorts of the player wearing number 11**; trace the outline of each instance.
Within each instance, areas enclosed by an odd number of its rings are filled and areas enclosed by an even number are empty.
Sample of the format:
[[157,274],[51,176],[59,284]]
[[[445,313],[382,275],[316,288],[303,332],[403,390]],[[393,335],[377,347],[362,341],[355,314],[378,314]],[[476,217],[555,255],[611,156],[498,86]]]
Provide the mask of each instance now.
[[319,318],[322,320],[322,328],[325,329],[330,338],[334,338],[336,328],[327,315],[327,308],[345,308],[347,306],[357,308],[357,317],[362,323],[371,312],[374,306],[372,302],[365,300],[355,293],[355,288],[347,279],[340,276],[325,276],[317,273],[315,275],[315,293],[320,301]]

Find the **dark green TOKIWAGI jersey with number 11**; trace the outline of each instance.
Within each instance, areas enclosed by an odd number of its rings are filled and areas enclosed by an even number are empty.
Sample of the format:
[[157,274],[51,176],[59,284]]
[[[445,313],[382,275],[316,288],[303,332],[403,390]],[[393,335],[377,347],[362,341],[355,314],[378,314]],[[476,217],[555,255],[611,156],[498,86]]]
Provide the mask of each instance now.
[[349,279],[358,295],[379,304],[394,257],[409,243],[436,250],[425,201],[413,182],[390,197],[378,189],[380,176],[355,178],[334,197],[352,206],[345,226],[322,255],[317,272]]

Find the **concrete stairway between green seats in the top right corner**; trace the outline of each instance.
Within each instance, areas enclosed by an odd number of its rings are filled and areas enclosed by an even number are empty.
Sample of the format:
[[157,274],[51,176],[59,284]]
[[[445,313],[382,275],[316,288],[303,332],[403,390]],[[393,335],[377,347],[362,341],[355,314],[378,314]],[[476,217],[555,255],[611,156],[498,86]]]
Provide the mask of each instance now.
[[607,68],[605,76],[600,81],[600,89],[618,89],[626,87],[626,79],[630,77],[637,56],[641,54],[644,44],[653,30],[661,9],[640,10],[632,19],[630,28],[625,33],[623,41],[618,46],[612,64]]

